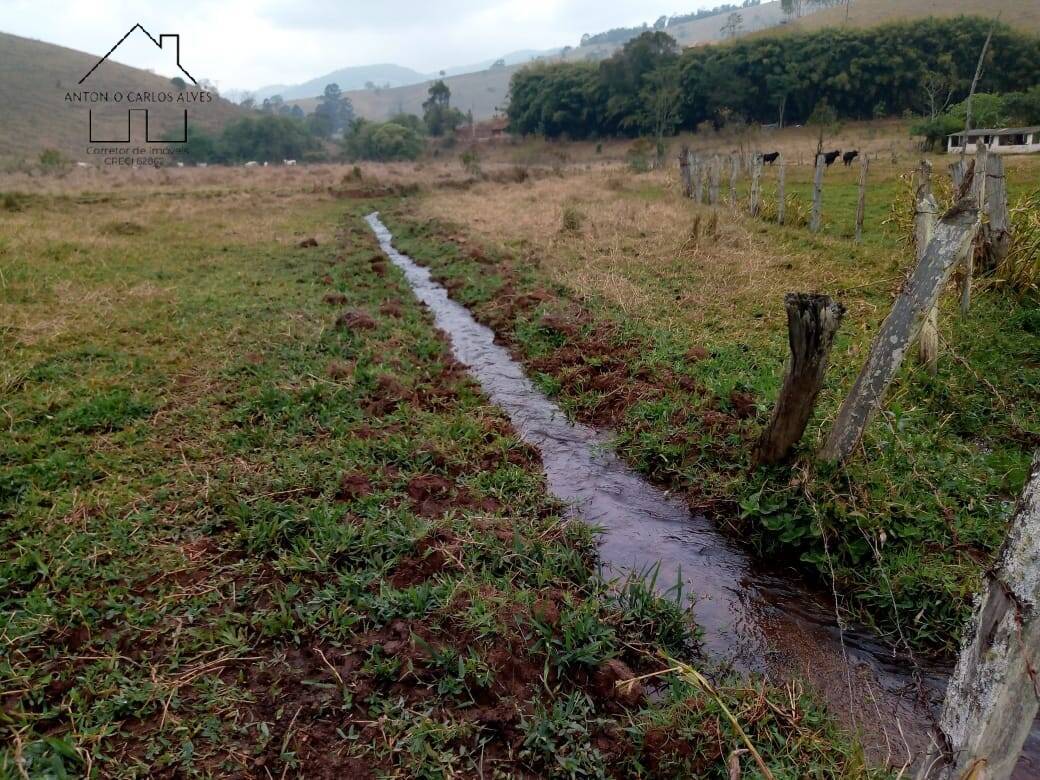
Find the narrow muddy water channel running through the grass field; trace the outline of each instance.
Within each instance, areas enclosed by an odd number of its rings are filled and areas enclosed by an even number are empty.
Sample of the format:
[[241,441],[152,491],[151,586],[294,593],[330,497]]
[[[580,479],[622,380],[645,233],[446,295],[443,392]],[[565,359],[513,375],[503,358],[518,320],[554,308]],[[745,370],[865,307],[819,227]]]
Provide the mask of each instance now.
[[[451,301],[426,268],[393,248],[379,215],[366,218],[450,338],[456,358],[505,411],[520,437],[541,451],[552,493],[603,529],[600,553],[607,575],[659,566],[658,586],[682,583],[713,662],[806,680],[838,718],[859,730],[876,761],[902,766],[919,754],[948,669],[915,672],[907,658],[867,632],[839,627],[828,594],[792,572],[753,562],[707,518],[644,480],[614,454],[608,432],[570,422],[495,343],[490,329]],[[1040,777],[1037,728],[1015,777]]]

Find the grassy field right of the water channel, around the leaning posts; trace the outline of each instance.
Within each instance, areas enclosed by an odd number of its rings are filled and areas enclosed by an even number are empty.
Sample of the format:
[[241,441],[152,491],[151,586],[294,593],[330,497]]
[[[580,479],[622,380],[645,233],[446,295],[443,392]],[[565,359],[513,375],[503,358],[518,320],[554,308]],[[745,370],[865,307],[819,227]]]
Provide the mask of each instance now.
[[[1035,162],[1009,162],[1013,201],[1040,184]],[[394,228],[569,413],[613,426],[641,472],[762,555],[833,581],[894,644],[948,654],[1040,441],[1040,309],[986,279],[967,317],[945,295],[938,375],[908,360],[848,467],[813,464],[912,260],[887,222],[905,168],[874,165],[861,244],[858,172],[840,165],[817,235],[683,202],[672,170],[479,185],[428,198],[418,220],[406,206]],[[806,212],[810,177],[788,170]],[[772,179],[763,192],[769,206]],[[787,356],[788,290],[830,293],[849,314],[799,461],[752,472]]]

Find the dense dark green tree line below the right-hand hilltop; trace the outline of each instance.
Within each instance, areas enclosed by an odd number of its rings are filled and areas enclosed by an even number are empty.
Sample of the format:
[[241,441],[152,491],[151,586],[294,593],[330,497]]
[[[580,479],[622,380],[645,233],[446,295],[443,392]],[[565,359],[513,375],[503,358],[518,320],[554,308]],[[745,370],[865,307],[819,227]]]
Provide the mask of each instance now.
[[[514,132],[549,137],[657,135],[733,122],[805,123],[937,115],[967,95],[992,22],[918,20],[869,29],[830,28],[680,51],[646,31],[599,63],[529,66],[513,76]],[[997,25],[979,92],[1040,83],[1040,37]],[[948,97],[947,97],[948,96]],[[825,110],[826,109],[826,110]]]

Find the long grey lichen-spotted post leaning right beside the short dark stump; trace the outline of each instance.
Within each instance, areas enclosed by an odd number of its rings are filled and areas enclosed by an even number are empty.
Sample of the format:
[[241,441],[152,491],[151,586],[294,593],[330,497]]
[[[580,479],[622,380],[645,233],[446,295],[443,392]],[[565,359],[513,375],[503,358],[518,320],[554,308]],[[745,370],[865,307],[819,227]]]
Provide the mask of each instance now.
[[939,298],[939,292],[957,265],[971,251],[971,241],[978,229],[979,204],[969,193],[942,216],[920,262],[881,324],[866,363],[841,404],[820,452],[822,460],[846,461],[859,444],[863,431],[903,364],[908,344],[920,334],[926,317]]

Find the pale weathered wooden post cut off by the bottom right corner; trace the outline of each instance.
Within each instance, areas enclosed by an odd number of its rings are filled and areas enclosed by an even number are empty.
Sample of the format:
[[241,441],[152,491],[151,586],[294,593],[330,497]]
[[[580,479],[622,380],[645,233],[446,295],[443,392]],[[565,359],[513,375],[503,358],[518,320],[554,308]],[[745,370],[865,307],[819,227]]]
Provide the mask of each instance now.
[[1040,658],[1040,451],[946,688],[918,778],[1011,777],[1037,714]]

